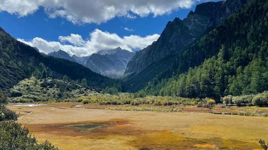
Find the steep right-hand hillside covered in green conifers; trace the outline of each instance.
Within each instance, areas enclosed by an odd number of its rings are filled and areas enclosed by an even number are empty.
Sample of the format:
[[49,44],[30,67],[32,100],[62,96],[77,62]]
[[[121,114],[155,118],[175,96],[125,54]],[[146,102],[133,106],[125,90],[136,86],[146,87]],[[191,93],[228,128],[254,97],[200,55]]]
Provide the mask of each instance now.
[[151,95],[257,94],[268,84],[268,1],[252,0],[148,83]]

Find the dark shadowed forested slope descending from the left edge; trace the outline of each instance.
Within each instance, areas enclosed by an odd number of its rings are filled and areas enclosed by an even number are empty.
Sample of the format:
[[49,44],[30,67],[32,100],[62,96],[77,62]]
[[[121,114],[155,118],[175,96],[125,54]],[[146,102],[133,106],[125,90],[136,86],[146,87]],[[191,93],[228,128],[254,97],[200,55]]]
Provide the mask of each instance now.
[[103,89],[115,86],[125,91],[123,81],[107,78],[75,62],[41,55],[33,47],[7,34],[1,27],[0,64],[0,91],[6,93],[19,81],[32,75],[53,79],[62,79],[64,75],[72,80],[85,78],[88,86]]

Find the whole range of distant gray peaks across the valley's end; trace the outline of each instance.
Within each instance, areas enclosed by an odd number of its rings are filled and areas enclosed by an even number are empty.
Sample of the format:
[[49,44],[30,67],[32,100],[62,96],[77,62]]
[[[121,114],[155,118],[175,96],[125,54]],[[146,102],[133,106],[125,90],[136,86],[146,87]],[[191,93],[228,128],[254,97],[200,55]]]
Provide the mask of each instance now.
[[101,50],[96,54],[84,57],[77,57],[76,55],[71,57],[62,50],[54,51],[47,55],[77,62],[104,76],[119,78],[123,76],[128,61],[134,56],[134,53],[118,47],[112,50]]

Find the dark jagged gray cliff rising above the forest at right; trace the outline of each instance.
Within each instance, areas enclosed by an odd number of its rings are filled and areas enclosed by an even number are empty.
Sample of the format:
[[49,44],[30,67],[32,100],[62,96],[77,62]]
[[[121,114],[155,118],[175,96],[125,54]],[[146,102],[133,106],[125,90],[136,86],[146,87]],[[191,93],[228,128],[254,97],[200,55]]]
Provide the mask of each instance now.
[[169,21],[157,41],[137,51],[124,72],[138,74],[154,62],[183,53],[184,48],[206,29],[214,27],[247,3],[248,0],[206,2],[196,6],[183,20]]

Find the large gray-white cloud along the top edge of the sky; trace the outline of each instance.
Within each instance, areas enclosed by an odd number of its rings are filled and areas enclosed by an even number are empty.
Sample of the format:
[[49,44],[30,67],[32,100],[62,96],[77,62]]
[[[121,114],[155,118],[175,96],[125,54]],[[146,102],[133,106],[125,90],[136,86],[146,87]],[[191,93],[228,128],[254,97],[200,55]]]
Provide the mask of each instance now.
[[169,14],[190,8],[198,0],[0,0],[0,11],[19,17],[44,8],[50,18],[66,18],[74,24],[106,22],[114,17],[135,19]]

